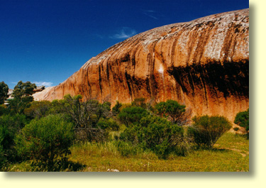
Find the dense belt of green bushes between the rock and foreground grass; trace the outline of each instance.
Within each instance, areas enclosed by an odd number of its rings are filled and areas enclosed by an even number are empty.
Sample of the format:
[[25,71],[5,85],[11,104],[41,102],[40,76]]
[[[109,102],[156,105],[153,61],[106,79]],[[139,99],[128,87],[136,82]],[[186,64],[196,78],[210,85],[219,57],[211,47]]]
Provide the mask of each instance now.
[[187,156],[194,144],[210,149],[231,127],[220,116],[194,117],[190,125],[190,109],[172,100],[117,101],[111,109],[108,101],[85,101],[80,95],[33,101],[34,88],[31,82],[19,82],[9,106],[0,105],[1,170],[14,162],[30,162],[38,171],[74,170],[82,165],[68,161],[70,148],[87,142],[109,143],[124,157]]

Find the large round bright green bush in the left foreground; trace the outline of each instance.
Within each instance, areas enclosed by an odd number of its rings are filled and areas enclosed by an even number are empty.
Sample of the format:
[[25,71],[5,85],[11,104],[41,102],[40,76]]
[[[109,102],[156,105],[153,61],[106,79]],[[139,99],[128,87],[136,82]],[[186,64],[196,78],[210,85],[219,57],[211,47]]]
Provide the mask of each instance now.
[[45,162],[51,170],[57,157],[70,154],[73,140],[72,123],[66,122],[60,115],[49,115],[33,119],[21,130],[16,137],[16,149],[25,160]]

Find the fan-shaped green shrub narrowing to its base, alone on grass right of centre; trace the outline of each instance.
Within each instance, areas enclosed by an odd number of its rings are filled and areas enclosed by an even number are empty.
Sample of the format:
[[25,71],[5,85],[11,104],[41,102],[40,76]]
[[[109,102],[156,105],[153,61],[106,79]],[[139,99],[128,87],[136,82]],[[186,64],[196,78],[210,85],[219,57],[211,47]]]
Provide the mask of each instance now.
[[223,116],[199,116],[192,118],[192,121],[194,123],[187,133],[199,147],[211,148],[231,128],[231,123]]

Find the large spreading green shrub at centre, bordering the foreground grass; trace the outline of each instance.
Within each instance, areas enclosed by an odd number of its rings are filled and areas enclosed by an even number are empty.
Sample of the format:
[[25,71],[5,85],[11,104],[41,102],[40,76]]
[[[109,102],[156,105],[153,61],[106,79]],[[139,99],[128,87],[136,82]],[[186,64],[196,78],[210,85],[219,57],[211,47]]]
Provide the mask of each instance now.
[[128,145],[136,145],[143,150],[151,150],[164,159],[170,153],[187,154],[187,148],[183,147],[184,128],[158,116],[143,117],[139,123],[126,128],[119,140],[130,143]]

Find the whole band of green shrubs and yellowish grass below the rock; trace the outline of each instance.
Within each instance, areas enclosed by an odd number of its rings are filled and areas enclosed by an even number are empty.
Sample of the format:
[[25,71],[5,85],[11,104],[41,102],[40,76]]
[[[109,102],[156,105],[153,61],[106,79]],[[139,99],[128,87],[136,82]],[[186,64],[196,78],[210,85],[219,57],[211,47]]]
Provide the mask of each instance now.
[[[21,100],[23,106],[17,104]],[[21,109],[15,111],[12,102]],[[0,108],[0,168],[248,171],[248,140],[226,133],[231,127],[226,118],[198,116],[190,123],[188,111],[170,100],[117,101],[111,108],[109,102],[84,101],[80,95],[50,102],[24,94]]]

